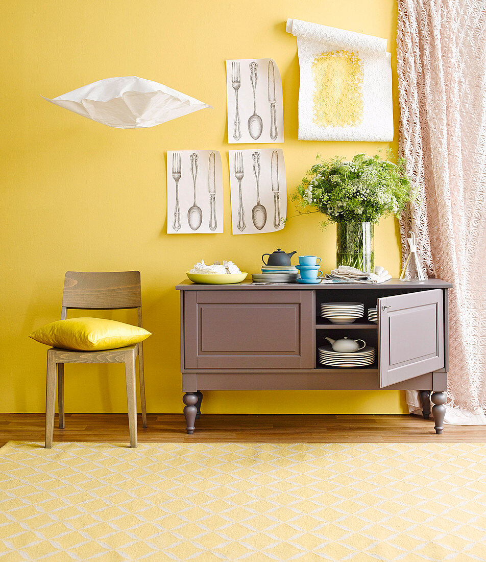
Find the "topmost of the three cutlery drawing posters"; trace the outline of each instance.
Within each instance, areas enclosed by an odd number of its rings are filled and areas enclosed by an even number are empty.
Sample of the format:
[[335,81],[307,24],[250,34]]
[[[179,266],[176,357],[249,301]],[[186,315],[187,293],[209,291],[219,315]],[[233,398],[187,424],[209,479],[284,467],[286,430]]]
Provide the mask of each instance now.
[[282,82],[271,58],[226,61],[228,142],[284,142]]

